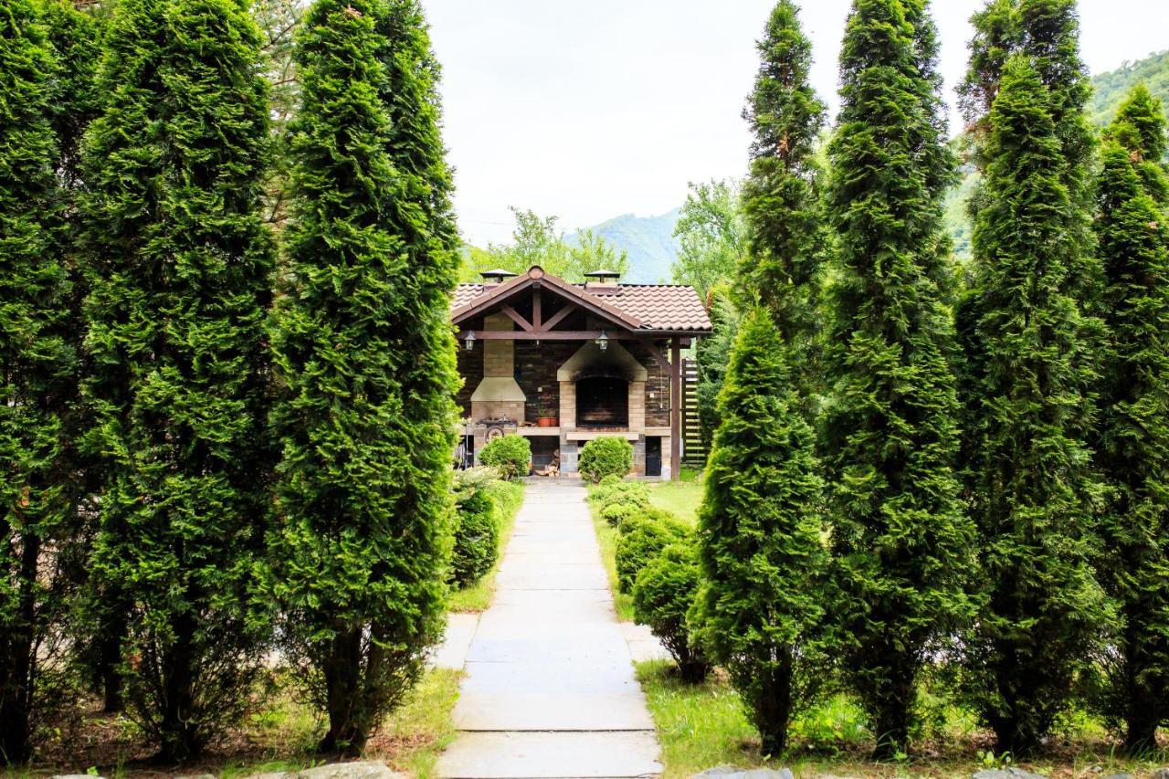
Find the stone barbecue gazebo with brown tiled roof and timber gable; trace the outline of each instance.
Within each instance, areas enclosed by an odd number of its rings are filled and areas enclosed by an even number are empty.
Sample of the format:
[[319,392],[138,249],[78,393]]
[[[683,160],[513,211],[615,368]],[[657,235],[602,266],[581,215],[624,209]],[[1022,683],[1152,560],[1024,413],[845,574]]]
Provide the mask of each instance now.
[[621,435],[638,475],[677,478],[682,350],[711,332],[706,306],[691,287],[587,277],[572,284],[535,266],[459,284],[451,319],[466,461],[518,433],[532,441],[537,468],[559,450],[561,473],[573,474],[587,441]]

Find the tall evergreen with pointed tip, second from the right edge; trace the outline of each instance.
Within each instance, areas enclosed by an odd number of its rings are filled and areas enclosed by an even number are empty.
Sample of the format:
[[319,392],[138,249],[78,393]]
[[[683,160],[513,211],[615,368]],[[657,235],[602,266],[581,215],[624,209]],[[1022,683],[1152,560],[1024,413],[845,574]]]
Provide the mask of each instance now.
[[981,366],[964,402],[987,588],[968,642],[969,690],[1015,754],[1037,747],[1066,709],[1108,620],[1090,565],[1093,374],[1072,292],[1079,208],[1047,95],[1029,57],[1004,67],[974,233],[978,317],[966,343]]

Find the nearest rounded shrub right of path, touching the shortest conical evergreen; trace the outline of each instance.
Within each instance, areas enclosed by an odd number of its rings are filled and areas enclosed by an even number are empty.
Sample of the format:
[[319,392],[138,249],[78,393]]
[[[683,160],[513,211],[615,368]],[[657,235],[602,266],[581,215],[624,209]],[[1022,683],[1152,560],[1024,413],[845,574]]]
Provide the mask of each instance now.
[[698,597],[701,579],[693,542],[670,544],[637,574],[634,585],[634,615],[660,641],[678,664],[683,681],[701,682],[711,663],[691,641],[686,614]]

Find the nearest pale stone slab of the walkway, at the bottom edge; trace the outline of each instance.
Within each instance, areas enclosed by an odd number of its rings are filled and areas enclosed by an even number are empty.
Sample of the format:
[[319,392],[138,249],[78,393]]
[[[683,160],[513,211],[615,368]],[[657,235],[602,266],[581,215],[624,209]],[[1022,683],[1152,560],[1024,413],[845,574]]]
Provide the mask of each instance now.
[[662,772],[657,737],[632,733],[464,733],[438,761],[459,779],[624,779]]

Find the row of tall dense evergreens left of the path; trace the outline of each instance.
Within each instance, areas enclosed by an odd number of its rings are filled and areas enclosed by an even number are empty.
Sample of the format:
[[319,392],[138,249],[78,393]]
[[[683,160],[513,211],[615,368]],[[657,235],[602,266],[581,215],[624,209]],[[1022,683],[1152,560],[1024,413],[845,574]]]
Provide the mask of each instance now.
[[415,0],[318,0],[295,57],[281,251],[247,4],[122,0],[104,28],[67,0],[0,9],[7,761],[70,664],[192,758],[274,652],[321,749],[357,752],[441,634],[438,68]]

